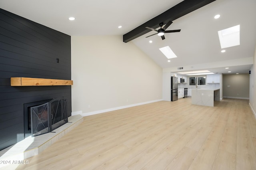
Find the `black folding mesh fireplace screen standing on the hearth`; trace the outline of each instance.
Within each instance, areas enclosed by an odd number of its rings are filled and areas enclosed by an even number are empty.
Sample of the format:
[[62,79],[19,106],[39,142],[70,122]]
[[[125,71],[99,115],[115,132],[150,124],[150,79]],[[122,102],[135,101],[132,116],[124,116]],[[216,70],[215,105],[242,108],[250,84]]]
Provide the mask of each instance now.
[[51,132],[67,123],[67,112],[67,100],[63,98],[30,107],[32,136]]

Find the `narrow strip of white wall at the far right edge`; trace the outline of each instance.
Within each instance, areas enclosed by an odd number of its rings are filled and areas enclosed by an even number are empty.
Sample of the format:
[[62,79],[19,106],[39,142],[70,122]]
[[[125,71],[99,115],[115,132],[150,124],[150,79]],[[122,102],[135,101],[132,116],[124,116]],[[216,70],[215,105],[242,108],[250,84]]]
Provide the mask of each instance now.
[[255,90],[255,85],[256,85],[256,47],[255,47],[255,52],[254,52],[254,57],[253,57],[253,66],[251,68],[251,74],[250,74],[250,95],[249,95],[249,105],[252,109],[252,112],[254,113],[254,116],[256,117],[256,90]]

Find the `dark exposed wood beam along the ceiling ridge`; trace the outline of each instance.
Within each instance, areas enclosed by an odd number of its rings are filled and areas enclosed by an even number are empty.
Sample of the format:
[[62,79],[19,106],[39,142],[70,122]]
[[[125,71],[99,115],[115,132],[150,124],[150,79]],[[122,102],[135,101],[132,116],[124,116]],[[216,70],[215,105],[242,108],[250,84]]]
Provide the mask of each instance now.
[[197,10],[202,6],[210,4],[213,1],[215,0],[184,0],[176,6],[165,11],[164,13],[138,26],[134,30],[124,34],[123,42],[129,42],[151,31],[149,29],[146,29],[145,27],[151,27],[156,29],[159,27],[160,22],[164,22],[164,24],[166,24],[170,20],[176,20],[177,18],[180,18],[194,10]]

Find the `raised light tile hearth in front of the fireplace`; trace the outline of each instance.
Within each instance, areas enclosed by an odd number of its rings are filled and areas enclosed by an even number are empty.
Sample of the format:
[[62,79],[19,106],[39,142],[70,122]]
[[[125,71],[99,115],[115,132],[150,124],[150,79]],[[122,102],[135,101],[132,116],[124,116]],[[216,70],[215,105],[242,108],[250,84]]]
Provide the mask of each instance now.
[[[4,150],[1,150],[0,161],[3,162],[10,160],[10,162],[13,162],[35,156],[48,148],[51,144],[56,142],[62,136],[64,136],[64,134],[77,127],[80,123],[82,123],[82,121],[83,117],[81,115],[74,115],[68,117],[68,123],[53,130],[53,132],[49,132],[35,137],[29,136],[24,140]],[[8,162],[7,164],[0,164],[0,168],[5,165],[8,165]]]

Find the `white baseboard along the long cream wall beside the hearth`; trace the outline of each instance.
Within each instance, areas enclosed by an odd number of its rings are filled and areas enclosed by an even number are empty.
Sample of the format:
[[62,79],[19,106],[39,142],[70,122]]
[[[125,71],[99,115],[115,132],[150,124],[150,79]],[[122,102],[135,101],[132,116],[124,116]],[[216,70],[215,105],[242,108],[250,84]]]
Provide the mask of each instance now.
[[132,104],[132,105],[126,105],[126,106],[120,106],[120,107],[114,107],[114,108],[110,108],[110,109],[104,109],[104,110],[100,110],[100,111],[93,111],[93,112],[88,112],[88,113],[80,113],[82,111],[78,111],[78,112],[72,112],[73,114],[80,114],[83,117],[85,116],[90,116],[90,115],[96,115],[96,114],[100,114],[100,113],[105,113],[105,112],[109,112],[109,111],[116,111],[119,109],[125,109],[128,107],[134,107],[134,106],[139,106],[139,105],[145,105],[148,103],[154,103],[154,102],[158,102],[158,101],[162,101],[163,99],[159,99],[159,100],[154,100],[154,101],[147,101],[147,102],[143,102],[143,103],[136,103],[136,104]]

